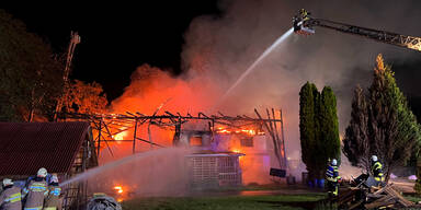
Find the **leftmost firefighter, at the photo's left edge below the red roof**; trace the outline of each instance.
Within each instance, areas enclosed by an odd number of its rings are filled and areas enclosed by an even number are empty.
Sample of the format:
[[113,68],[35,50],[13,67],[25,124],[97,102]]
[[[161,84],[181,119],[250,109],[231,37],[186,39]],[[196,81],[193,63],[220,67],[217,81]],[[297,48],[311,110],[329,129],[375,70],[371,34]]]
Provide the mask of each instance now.
[[21,210],[21,188],[13,186],[10,178],[3,179],[3,191],[0,194],[0,209]]

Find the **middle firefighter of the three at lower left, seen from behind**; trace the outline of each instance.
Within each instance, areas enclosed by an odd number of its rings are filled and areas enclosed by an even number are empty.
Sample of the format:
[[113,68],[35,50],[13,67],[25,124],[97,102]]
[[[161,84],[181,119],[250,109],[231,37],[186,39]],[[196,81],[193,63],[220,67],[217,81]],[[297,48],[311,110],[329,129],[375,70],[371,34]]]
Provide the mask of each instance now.
[[47,170],[44,167],[39,168],[36,177],[23,189],[22,197],[26,196],[24,210],[41,210],[44,206],[44,199],[48,195],[47,182]]

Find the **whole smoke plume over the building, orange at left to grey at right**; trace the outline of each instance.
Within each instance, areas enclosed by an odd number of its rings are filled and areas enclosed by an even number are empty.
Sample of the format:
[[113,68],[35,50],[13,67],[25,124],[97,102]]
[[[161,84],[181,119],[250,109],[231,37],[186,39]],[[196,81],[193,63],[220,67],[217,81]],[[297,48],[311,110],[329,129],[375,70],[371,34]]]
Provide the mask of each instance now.
[[[163,109],[181,114],[204,110],[215,114],[247,114],[253,108],[282,108],[285,120],[286,153],[300,160],[298,93],[306,81],[319,89],[330,85],[338,98],[341,133],[350,120],[353,89],[367,85],[375,57],[386,61],[417,60],[419,52],[362,37],[316,28],[316,34],[289,36],[255,70],[234,89],[223,102],[215,103],[254,60],[292,27],[292,18],[305,8],[315,18],[421,35],[420,1],[304,1],[304,0],[223,0],[220,14],[195,18],[184,35],[181,52],[183,73],[144,65],[132,75],[124,94],[112,102],[113,113],[152,114]],[[147,131],[139,131],[147,138]],[[171,133],[166,133],[172,139]],[[162,140],[163,141],[163,140]],[[141,145],[149,147],[148,144]],[[128,149],[127,149],[128,151]],[[343,158],[345,159],[345,158]],[[298,164],[301,170],[303,165]],[[352,168],[350,168],[352,170]]]

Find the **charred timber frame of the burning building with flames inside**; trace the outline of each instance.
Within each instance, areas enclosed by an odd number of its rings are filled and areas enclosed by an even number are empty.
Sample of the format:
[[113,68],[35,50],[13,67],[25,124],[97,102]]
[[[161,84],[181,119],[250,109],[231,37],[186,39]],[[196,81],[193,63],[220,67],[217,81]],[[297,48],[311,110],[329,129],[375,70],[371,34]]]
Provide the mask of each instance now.
[[[153,115],[128,112],[94,115],[66,113],[59,117],[90,121],[98,153],[100,148],[104,148],[113,154],[110,142],[130,143],[133,153],[139,152],[139,147],[145,150],[145,145],[149,147],[148,150],[164,147],[194,148],[198,152],[186,156],[186,165],[192,186],[198,188],[208,188],[206,185],[209,183],[213,183],[212,187],[241,185],[241,177],[244,176],[241,166],[244,165],[264,167],[266,176],[271,165],[286,168],[282,110],[265,109],[266,118],[257,109],[254,118],[247,115],[232,117],[220,112],[217,115],[181,115],[168,110],[158,115],[158,112]],[[172,143],[158,142],[151,133],[151,127],[171,133],[169,142]],[[144,133],[146,138],[140,138],[140,128],[147,130]],[[246,163],[244,159],[250,163]],[[201,165],[200,168],[197,165]]]

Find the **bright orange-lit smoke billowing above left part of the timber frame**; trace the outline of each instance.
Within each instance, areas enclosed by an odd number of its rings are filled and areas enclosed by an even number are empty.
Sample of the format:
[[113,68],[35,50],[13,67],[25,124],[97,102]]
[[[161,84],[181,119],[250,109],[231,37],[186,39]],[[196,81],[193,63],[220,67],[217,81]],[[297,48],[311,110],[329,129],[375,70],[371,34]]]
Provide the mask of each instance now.
[[130,85],[123,95],[112,102],[113,113],[152,115],[161,105],[164,110],[197,113],[208,107],[216,97],[215,84],[210,80],[182,80],[149,65],[138,67],[130,79]]

